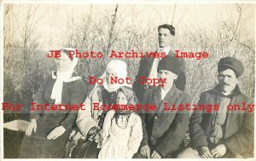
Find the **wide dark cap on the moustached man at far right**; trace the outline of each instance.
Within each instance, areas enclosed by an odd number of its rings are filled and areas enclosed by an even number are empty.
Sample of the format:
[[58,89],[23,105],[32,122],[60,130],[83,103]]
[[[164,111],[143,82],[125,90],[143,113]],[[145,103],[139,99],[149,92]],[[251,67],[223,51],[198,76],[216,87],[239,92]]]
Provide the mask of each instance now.
[[244,66],[241,61],[232,57],[224,57],[218,61],[218,72],[222,72],[227,68],[235,72],[236,78],[239,78],[244,72]]

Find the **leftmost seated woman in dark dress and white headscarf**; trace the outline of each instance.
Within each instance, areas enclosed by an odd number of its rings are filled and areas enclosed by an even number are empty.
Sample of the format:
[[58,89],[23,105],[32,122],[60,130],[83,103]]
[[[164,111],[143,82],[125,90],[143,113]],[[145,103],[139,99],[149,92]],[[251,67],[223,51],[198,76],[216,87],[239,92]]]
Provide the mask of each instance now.
[[[80,105],[84,101],[84,83],[73,73],[78,58],[70,58],[61,49],[61,57],[55,59],[57,71],[44,80],[34,97],[34,103],[49,105]],[[20,158],[62,158],[68,135],[75,124],[77,111],[31,111],[31,123],[26,129],[20,147]]]

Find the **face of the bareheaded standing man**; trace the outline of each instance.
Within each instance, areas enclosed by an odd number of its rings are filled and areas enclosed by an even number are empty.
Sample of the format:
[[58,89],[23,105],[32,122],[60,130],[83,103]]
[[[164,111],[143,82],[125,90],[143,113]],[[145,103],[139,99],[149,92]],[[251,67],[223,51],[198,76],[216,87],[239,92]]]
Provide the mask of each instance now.
[[166,48],[172,44],[172,34],[166,28],[160,28],[158,31],[158,43],[160,48]]

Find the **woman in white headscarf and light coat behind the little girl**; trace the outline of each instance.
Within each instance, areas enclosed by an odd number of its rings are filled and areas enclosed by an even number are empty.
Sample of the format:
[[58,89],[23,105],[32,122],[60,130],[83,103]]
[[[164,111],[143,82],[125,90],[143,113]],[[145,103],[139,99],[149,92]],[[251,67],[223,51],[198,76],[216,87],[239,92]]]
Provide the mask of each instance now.
[[[106,71],[102,75],[102,84],[96,84],[94,89],[90,92],[90,95],[84,101],[84,105],[86,110],[79,110],[78,118],[77,118],[77,126],[79,128],[80,134],[84,138],[88,138],[91,135],[94,138],[99,139],[100,135],[96,134],[102,129],[102,124],[104,122],[104,118],[106,116],[107,111],[102,110],[93,110],[94,103],[99,103],[98,106],[111,105],[115,103],[115,93],[117,89],[121,86],[130,86],[131,84],[127,83],[111,83],[111,78],[123,78],[127,77],[127,66],[125,61],[122,60],[111,60],[108,62],[108,66]],[[79,137],[77,135],[77,137]],[[95,149],[96,150],[96,149]],[[96,158],[97,152],[88,152],[90,153],[90,157],[88,158]],[[87,158],[86,156],[82,156],[83,158]],[[81,158],[81,156],[74,156],[74,158]]]

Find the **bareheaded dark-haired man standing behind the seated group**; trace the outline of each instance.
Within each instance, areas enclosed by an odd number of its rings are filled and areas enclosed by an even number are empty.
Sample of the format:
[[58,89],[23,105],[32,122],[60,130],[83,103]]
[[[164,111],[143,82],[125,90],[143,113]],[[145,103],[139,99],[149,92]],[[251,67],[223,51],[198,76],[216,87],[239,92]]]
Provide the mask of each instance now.
[[[158,40],[159,40],[159,49],[157,53],[165,52],[166,55],[175,55],[171,50],[173,36],[175,35],[175,28],[172,25],[164,24],[158,26]],[[165,59],[165,58],[164,58]],[[137,72],[137,76],[135,82],[133,83],[133,89],[135,90],[135,94],[139,101],[142,101],[143,95],[146,89],[153,89],[152,84],[142,85],[138,83],[138,79],[141,77],[145,78],[157,78],[157,66],[159,65],[160,58],[144,57],[140,60],[139,70]],[[186,84],[185,77],[185,61],[182,61],[180,67],[181,72],[175,81],[175,85],[177,89],[184,90]]]

